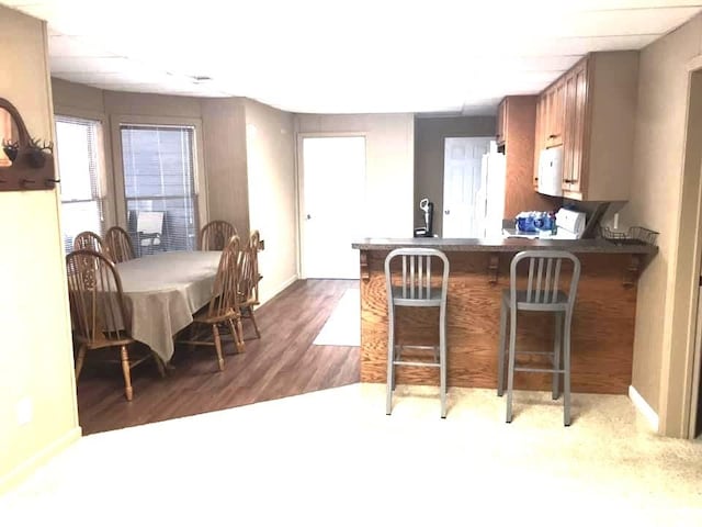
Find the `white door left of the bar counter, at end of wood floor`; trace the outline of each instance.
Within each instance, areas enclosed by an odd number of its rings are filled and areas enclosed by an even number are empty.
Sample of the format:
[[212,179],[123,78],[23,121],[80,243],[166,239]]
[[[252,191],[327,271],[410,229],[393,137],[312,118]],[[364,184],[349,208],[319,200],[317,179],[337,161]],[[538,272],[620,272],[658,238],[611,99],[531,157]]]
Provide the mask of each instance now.
[[365,137],[304,137],[301,204],[304,278],[360,277]]

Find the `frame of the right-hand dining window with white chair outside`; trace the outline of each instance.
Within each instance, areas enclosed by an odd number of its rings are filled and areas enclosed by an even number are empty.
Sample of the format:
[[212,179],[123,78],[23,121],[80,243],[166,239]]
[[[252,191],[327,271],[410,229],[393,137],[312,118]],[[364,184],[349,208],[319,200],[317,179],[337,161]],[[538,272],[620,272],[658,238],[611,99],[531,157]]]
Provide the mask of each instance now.
[[186,126],[193,128],[193,181],[196,195],[196,231],[207,223],[207,179],[205,177],[204,147],[202,141],[202,120],[194,117],[112,115],[112,160],[114,167],[114,201],[116,225],[127,228],[127,199],[124,184],[124,160],[122,154],[122,126]]

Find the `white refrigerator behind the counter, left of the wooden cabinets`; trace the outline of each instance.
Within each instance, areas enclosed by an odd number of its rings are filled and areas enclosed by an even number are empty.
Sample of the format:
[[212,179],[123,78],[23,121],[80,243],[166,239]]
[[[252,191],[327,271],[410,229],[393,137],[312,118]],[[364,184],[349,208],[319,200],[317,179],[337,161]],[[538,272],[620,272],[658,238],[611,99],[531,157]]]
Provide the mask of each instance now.
[[505,154],[494,147],[483,155],[480,187],[475,197],[477,237],[501,238],[505,215]]

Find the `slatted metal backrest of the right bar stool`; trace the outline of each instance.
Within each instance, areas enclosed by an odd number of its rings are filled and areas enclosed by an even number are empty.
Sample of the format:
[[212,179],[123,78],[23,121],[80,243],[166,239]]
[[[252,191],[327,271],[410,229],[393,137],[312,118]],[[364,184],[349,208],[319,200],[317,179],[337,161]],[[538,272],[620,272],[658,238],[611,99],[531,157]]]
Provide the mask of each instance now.
[[[520,262],[529,261],[529,274],[526,289],[517,288],[517,271]],[[561,289],[562,262],[569,260],[573,262],[573,272],[568,292]],[[532,305],[537,310],[547,310],[550,305],[567,305],[569,312],[573,311],[575,296],[580,280],[580,260],[571,253],[565,250],[524,250],[512,258],[510,265],[510,303],[512,309],[529,309]],[[567,284],[567,283],[566,283]],[[519,296],[519,299],[518,299]],[[519,306],[517,304],[520,304]]]

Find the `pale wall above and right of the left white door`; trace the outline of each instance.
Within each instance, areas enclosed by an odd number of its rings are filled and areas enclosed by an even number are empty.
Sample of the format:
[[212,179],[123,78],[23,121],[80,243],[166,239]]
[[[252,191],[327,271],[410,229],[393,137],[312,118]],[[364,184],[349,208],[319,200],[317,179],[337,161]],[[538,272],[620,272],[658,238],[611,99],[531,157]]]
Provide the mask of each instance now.
[[[296,115],[299,134],[365,136],[365,210],[370,237],[414,235],[415,120],[412,114]],[[417,204],[417,206],[419,206]]]

